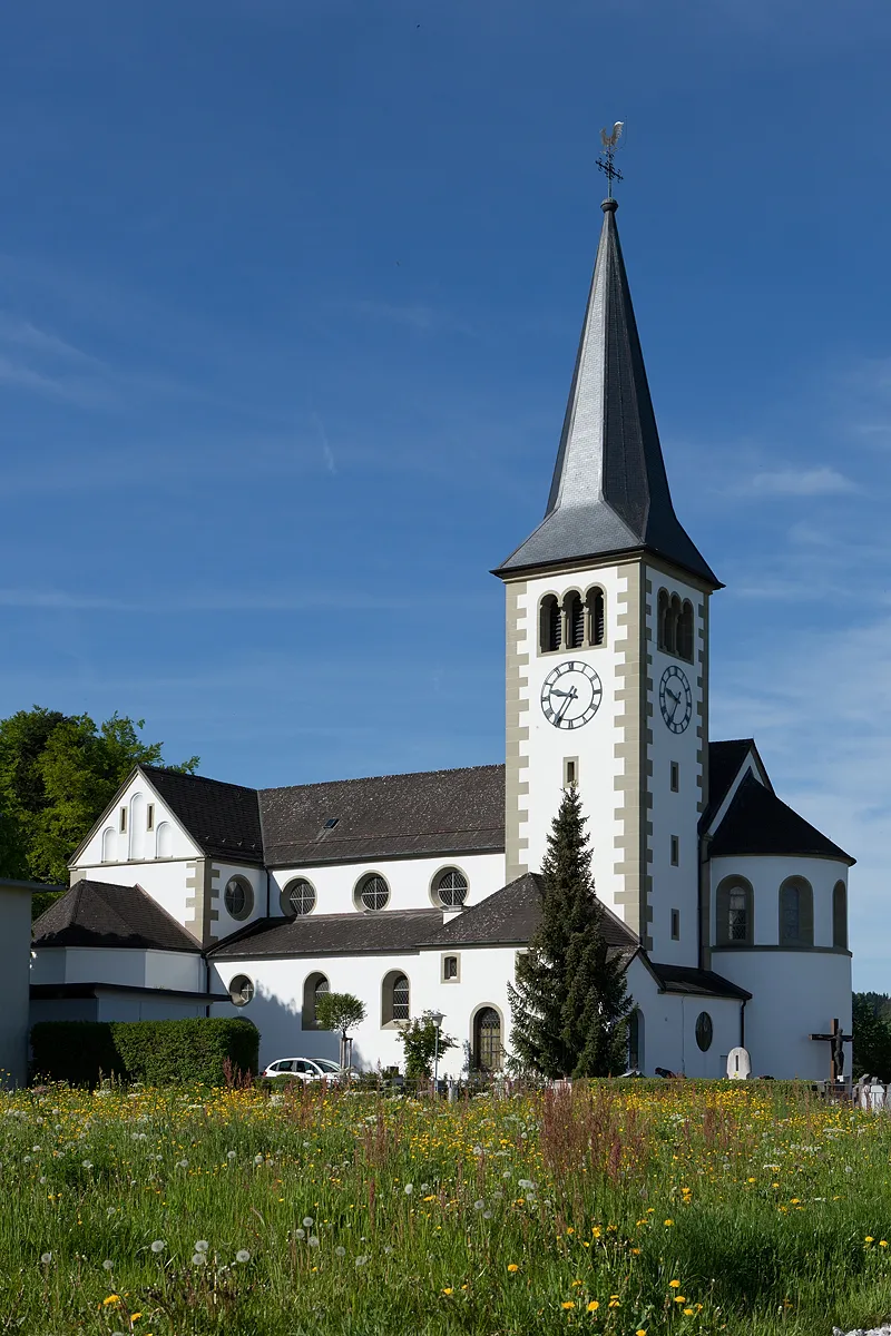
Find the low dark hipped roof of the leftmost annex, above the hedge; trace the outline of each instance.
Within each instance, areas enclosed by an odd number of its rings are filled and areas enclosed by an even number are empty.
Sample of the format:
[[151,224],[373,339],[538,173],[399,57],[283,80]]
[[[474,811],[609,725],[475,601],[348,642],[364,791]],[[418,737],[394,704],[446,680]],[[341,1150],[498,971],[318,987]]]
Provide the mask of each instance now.
[[32,943],[200,951],[194,937],[139,886],[110,882],[76,882],[35,922]]

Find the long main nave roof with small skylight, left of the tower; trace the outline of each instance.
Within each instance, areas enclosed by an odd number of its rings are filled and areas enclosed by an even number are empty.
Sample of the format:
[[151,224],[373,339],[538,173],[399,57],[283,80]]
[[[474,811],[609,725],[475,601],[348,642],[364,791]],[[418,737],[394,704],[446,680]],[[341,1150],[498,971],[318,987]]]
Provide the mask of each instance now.
[[263,788],[259,799],[270,867],[504,850],[504,766]]

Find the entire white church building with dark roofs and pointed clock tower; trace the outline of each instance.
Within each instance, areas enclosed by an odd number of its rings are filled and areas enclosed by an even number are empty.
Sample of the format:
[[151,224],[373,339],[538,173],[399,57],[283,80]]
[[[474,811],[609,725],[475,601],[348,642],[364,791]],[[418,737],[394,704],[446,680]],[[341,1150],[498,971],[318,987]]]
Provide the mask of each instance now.
[[254,790],[138,767],[35,925],[32,1021],[234,1015],[260,1061],[337,1057],[327,990],[366,1019],[354,1063],[443,1013],[443,1074],[510,1053],[508,983],[574,784],[636,1010],[629,1066],[820,1079],[851,1026],[851,859],[781,802],[752,739],[709,736],[721,582],[675,513],[616,202],[604,223],[538,528],[506,601],[505,762]]

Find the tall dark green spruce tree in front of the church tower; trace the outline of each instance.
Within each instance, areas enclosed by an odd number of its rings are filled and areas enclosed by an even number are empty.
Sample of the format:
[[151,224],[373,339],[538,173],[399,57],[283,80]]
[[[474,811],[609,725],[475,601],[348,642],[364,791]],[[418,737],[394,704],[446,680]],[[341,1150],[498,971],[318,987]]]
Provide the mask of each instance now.
[[633,1010],[622,961],[609,958],[594,894],[578,792],[564,794],[541,864],[541,925],[508,985],[512,1047],[524,1067],[552,1079],[616,1075],[625,1066]]

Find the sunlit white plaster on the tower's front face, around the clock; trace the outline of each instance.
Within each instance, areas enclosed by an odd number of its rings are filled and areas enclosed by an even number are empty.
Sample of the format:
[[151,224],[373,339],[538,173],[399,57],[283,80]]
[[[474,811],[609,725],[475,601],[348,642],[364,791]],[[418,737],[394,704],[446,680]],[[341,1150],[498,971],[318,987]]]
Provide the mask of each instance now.
[[[569,589],[578,589],[584,596],[585,589],[594,584],[605,595],[605,644],[592,649],[541,653],[538,607],[542,597],[553,593],[562,599]],[[529,667],[520,669],[518,723],[529,729],[529,739],[520,743],[521,755],[529,758],[529,766],[520,772],[521,782],[529,784],[528,795],[520,798],[520,807],[528,810],[528,819],[520,826],[520,836],[528,839],[528,848],[521,851],[520,860],[526,862],[530,871],[541,867],[550,823],[562,799],[564,759],[577,756],[578,792],[589,822],[597,894],[620,914],[616,894],[622,890],[624,879],[614,871],[614,863],[621,856],[616,839],[622,826],[616,816],[614,780],[622,772],[622,762],[616,759],[614,747],[622,741],[624,729],[616,725],[616,667],[625,661],[625,628],[618,627],[618,597],[627,593],[627,587],[628,580],[614,566],[601,566],[585,574],[558,573],[529,580],[525,595],[518,600],[517,643],[518,653],[529,655]],[[593,719],[582,728],[564,731],[545,719],[541,689],[548,673],[569,659],[590,664],[600,677],[602,696]]]

